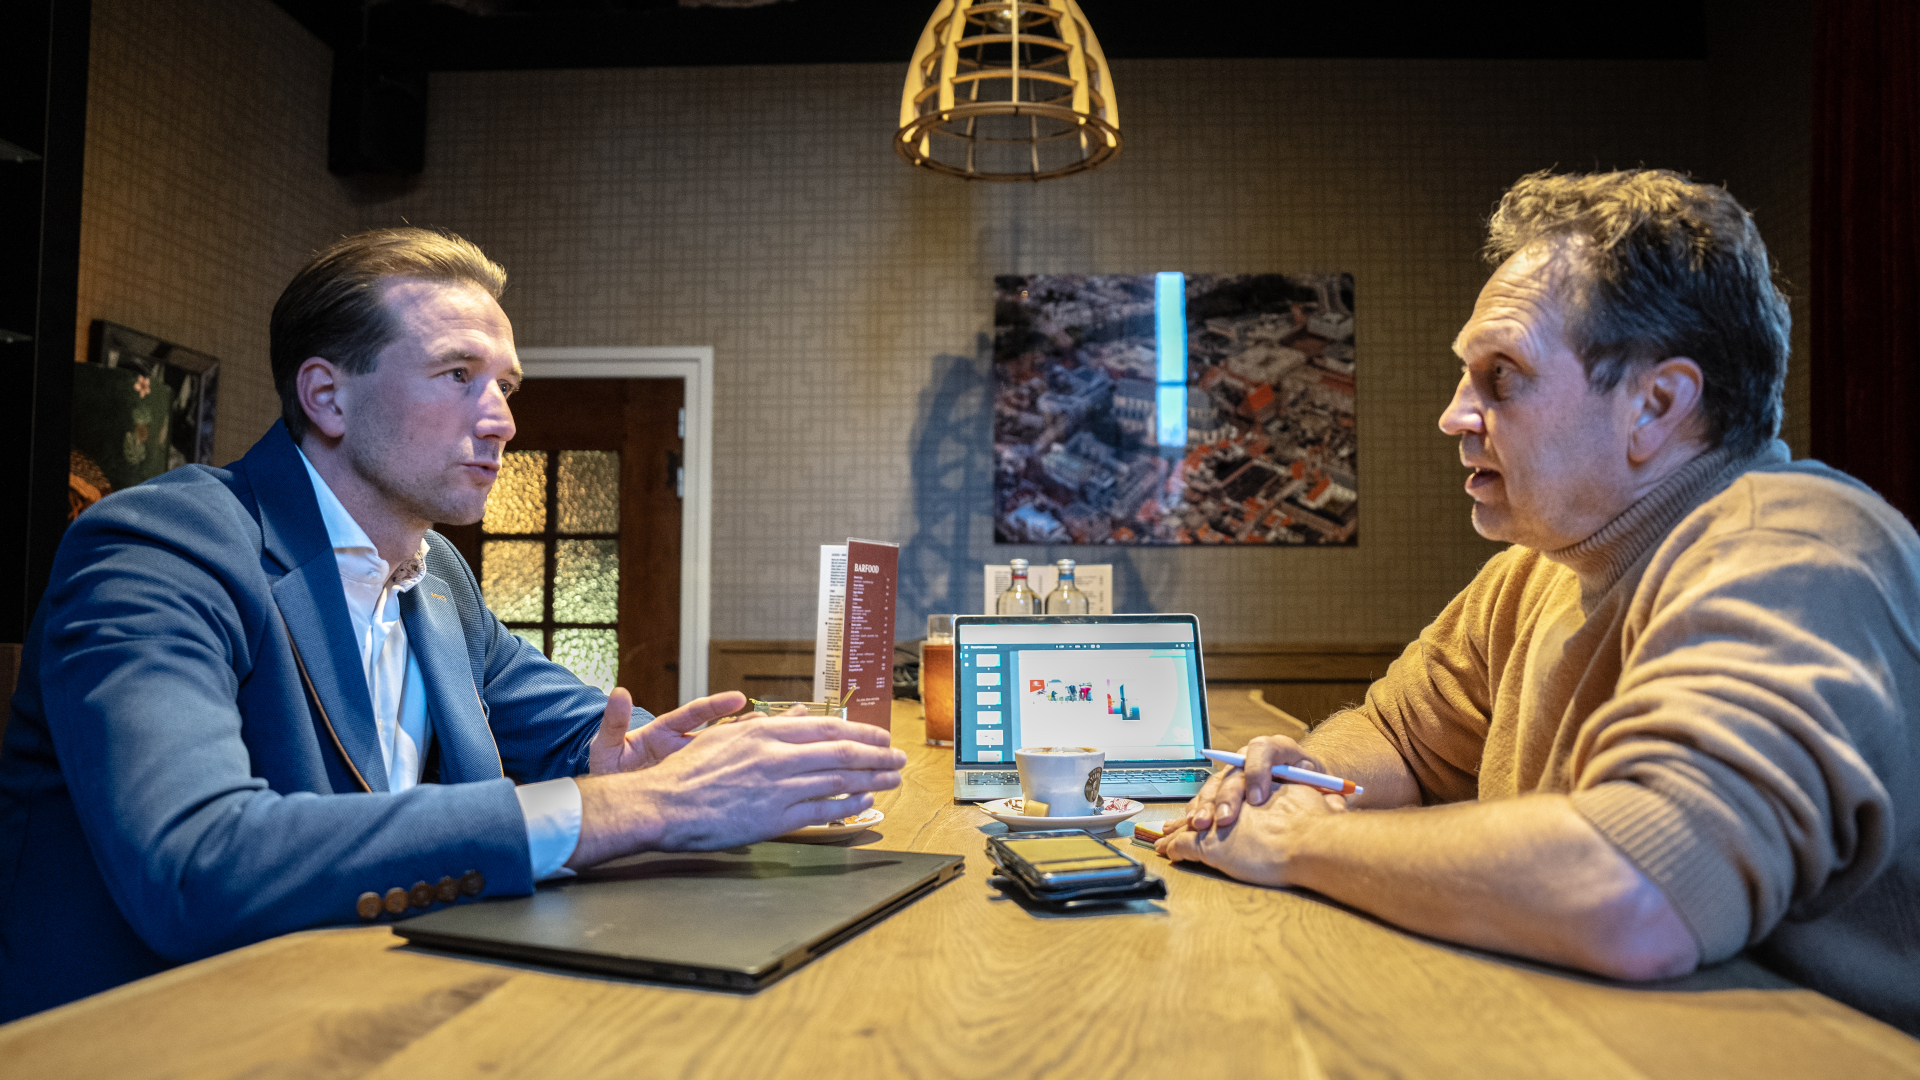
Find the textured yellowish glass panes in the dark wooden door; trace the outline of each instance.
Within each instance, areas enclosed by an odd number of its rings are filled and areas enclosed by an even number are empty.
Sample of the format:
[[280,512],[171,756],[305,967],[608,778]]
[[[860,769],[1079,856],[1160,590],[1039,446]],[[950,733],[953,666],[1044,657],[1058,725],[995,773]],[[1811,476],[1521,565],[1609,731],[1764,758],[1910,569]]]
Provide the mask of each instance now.
[[620,452],[509,450],[480,521],[480,592],[509,630],[612,690],[620,673]]

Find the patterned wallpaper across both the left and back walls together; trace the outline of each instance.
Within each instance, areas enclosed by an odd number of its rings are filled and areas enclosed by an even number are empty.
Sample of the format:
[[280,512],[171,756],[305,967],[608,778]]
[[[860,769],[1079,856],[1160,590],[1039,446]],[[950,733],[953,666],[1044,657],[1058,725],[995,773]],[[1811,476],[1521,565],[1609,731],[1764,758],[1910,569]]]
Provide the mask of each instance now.
[[[1507,183],[1692,169],[1807,277],[1799,15],[1728,6],[1711,61],[1119,60],[1119,160],[1039,186],[900,163],[900,65],[436,75],[426,173],[355,204],[324,173],[324,48],[238,6],[96,2],[86,317],[228,359],[252,388],[223,455],[276,413],[273,298],[349,227],[480,242],[522,346],[712,346],[716,638],[806,636],[816,546],[864,536],[904,546],[906,638],[972,611],[981,563],[1073,555],[1114,563],[1117,609],[1194,611],[1212,642],[1407,640],[1494,552],[1434,421]],[[167,35],[227,58],[182,69]],[[1162,269],[1356,275],[1357,548],[993,544],[993,275]]]

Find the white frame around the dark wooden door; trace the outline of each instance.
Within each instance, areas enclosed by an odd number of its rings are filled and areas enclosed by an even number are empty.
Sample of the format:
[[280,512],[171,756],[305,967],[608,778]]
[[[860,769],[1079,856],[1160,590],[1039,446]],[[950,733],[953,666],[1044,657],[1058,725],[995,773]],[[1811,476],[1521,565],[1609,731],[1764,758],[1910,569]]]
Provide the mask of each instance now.
[[522,348],[528,379],[680,379],[685,384],[685,496],[680,503],[680,703],[707,694],[712,634],[712,346]]

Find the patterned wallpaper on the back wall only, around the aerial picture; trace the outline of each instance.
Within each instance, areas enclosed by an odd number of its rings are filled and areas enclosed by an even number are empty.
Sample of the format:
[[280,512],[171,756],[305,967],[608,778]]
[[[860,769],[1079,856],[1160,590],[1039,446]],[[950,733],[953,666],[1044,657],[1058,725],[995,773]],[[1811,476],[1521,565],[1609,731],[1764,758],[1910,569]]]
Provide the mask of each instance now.
[[[985,561],[1073,555],[1114,563],[1119,609],[1196,611],[1215,642],[1405,640],[1494,552],[1434,421],[1503,184],[1647,161],[1745,194],[1672,108],[1711,92],[1705,63],[1117,61],[1121,158],[1039,186],[897,161],[899,77],[442,75],[420,186],[365,219],[484,244],[522,344],[714,346],[716,638],[806,636],[814,546],[866,536],[904,544],[900,636],[972,611]],[[1764,190],[1803,252],[1805,196]],[[993,275],[1160,269],[1356,275],[1357,548],[993,544]]]

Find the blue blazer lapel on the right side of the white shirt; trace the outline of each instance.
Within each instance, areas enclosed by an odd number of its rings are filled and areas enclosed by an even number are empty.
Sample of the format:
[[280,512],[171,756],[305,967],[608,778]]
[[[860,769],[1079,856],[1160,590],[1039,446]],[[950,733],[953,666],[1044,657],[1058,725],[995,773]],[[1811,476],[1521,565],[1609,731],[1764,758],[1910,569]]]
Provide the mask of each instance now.
[[499,748],[467,663],[467,634],[453,590],[434,575],[399,596],[407,646],[426,684],[428,717],[440,744],[440,782],[465,784],[501,776]]

